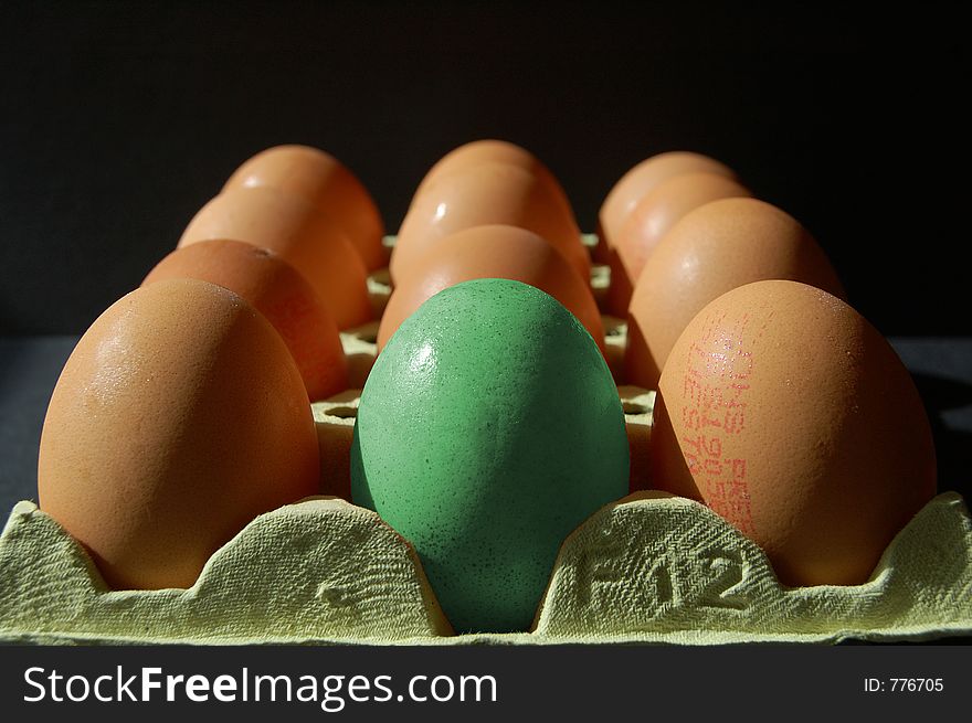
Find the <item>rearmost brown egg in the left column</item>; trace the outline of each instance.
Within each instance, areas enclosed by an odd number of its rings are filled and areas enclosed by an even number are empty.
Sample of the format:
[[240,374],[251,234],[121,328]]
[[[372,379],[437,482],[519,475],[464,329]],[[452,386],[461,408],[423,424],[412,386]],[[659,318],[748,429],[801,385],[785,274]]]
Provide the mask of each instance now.
[[331,216],[369,272],[388,265],[384,223],[360,180],[338,159],[310,146],[275,146],[244,162],[223,191],[271,187],[298,195]]

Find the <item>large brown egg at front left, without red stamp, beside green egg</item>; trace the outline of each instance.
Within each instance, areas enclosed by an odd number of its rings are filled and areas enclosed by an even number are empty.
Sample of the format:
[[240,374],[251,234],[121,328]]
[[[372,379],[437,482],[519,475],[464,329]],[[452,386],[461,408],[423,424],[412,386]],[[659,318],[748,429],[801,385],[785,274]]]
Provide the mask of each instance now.
[[271,323],[197,279],[98,317],[54,387],[41,509],[115,588],[187,587],[253,518],[319,487],[297,366]]

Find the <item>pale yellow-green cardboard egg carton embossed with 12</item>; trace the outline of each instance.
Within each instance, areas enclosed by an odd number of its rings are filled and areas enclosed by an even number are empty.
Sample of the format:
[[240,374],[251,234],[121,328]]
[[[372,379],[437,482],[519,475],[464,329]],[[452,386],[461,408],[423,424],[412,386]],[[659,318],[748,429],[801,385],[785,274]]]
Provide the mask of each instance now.
[[[593,247],[596,237],[584,242]],[[599,302],[609,283],[595,266]],[[387,269],[369,278],[369,291],[380,318]],[[609,368],[623,382],[626,328],[603,320]],[[33,502],[18,503],[0,534],[0,641],[721,645],[972,634],[972,518],[958,493],[930,501],[867,583],[788,588],[765,554],[708,508],[647,491],[608,504],[564,540],[529,631],[455,635],[412,546],[347,501],[377,330],[373,321],[341,333],[351,387],[311,405],[325,496],[257,517],[190,588],[112,591],[63,528]],[[654,392],[621,384],[619,395],[633,488],[643,488]]]

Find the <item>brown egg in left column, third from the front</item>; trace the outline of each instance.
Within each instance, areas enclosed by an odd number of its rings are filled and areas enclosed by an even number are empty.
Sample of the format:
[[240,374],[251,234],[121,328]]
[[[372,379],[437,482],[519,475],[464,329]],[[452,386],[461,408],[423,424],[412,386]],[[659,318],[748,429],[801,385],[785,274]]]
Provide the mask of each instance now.
[[339,329],[371,319],[364,263],[330,216],[307,201],[267,187],[230,189],[196,214],[179,247],[212,238],[276,253],[310,283]]

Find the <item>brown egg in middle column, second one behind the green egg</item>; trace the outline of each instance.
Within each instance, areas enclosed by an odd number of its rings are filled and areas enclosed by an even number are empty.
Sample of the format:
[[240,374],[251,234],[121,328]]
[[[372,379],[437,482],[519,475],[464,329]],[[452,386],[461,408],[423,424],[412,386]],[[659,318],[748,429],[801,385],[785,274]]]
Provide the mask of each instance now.
[[553,244],[581,278],[590,279],[591,262],[573,220],[536,176],[493,161],[443,176],[415,200],[392,252],[392,279],[404,281],[415,256],[431,241],[486,224],[532,231]]

